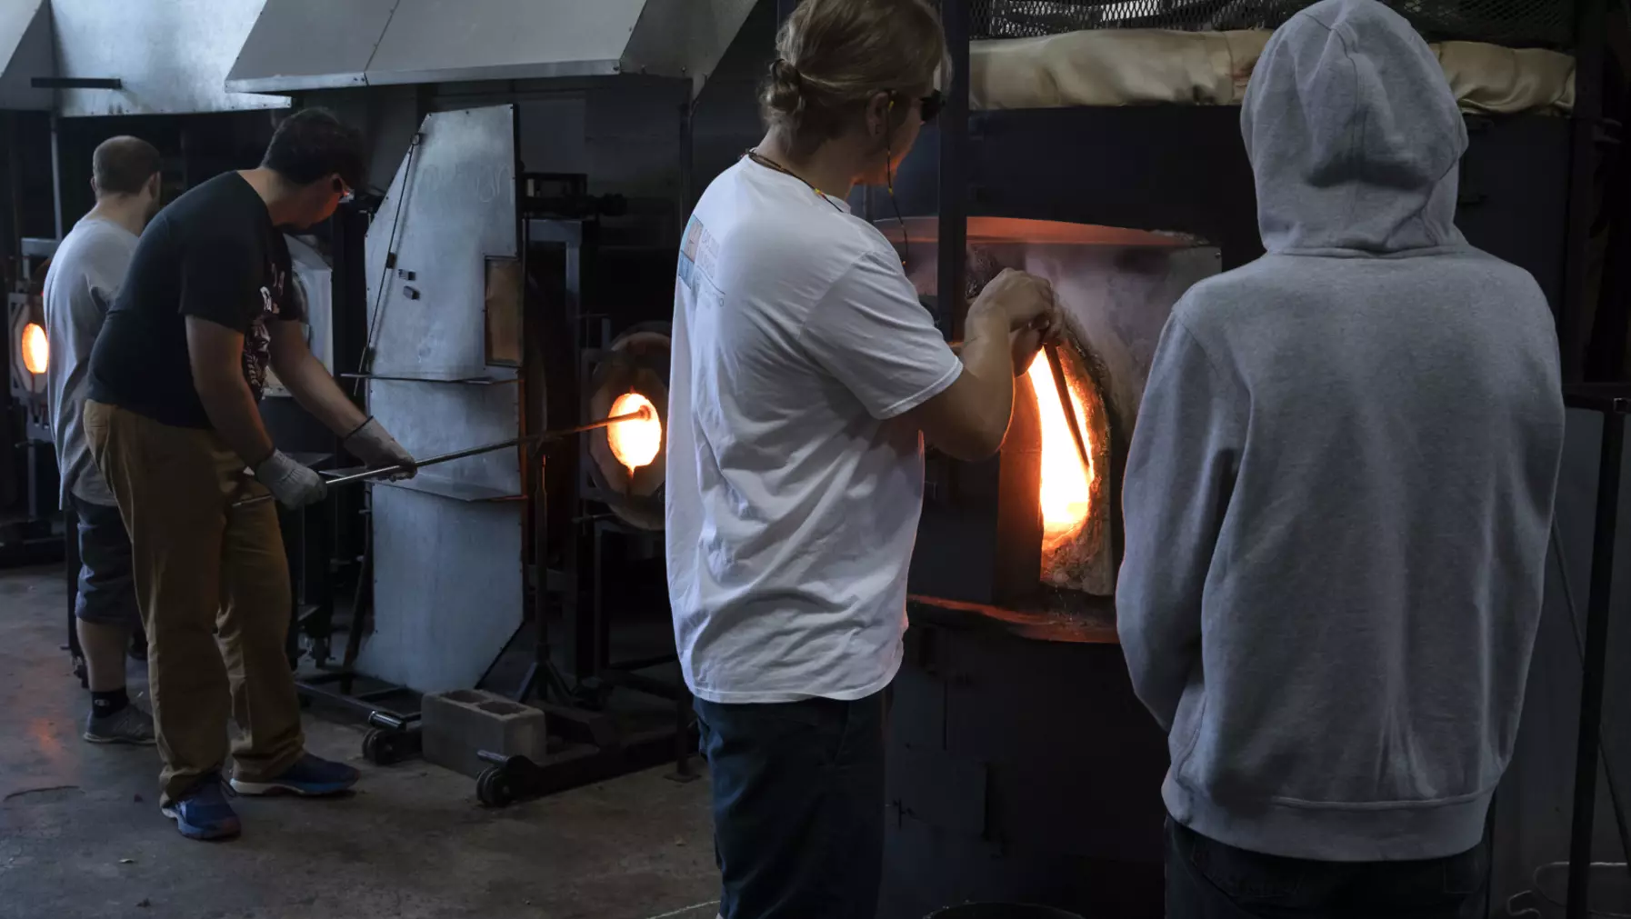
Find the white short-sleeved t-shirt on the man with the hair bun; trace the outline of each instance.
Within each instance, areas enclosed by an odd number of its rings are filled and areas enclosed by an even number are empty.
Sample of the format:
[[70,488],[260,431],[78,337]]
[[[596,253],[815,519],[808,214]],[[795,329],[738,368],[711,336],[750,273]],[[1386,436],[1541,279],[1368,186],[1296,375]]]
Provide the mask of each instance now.
[[669,600],[709,702],[863,699],[900,666],[923,445],[891,422],[962,362],[887,240],[742,160],[680,251]]

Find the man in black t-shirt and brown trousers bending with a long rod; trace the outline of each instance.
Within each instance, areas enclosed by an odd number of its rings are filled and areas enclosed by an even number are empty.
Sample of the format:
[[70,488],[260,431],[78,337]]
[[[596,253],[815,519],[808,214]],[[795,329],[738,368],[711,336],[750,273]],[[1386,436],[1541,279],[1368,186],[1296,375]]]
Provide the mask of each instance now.
[[148,225],[91,350],[85,433],[130,533],[160,807],[194,839],[240,829],[222,789],[228,714],[243,730],[238,794],[331,795],[357,780],[305,751],[277,513],[238,502],[271,492],[294,508],[326,494],[261,424],[267,368],[359,460],[413,473],[307,347],[277,230],[328,220],[360,176],[354,130],[321,109],[287,117],[259,168],[201,184]]

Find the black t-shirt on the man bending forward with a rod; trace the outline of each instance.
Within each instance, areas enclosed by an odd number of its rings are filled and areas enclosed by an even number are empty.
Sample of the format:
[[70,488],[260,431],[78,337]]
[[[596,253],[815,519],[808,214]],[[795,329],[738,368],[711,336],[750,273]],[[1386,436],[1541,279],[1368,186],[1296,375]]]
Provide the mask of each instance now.
[[142,233],[91,350],[90,398],[176,427],[210,427],[192,388],[186,316],[243,332],[243,376],[259,399],[272,319],[305,319],[289,246],[238,173],[183,194]]

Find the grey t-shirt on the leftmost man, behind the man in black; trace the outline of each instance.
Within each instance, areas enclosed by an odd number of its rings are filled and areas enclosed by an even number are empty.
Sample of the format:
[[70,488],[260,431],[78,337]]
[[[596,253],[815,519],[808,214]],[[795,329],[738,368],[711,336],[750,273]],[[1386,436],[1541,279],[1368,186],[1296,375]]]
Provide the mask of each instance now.
[[60,500],[113,505],[113,492],[96,471],[80,416],[85,409],[91,345],[101,332],[124,272],[135,253],[135,235],[99,217],[80,220],[46,272],[46,337],[51,360],[46,383],[51,398],[51,432],[62,471]]

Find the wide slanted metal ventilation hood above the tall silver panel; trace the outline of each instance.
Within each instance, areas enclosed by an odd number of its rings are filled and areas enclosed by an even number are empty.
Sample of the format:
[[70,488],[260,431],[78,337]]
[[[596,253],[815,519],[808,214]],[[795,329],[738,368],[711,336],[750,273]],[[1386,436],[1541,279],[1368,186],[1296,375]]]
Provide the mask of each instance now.
[[266,0],[238,93],[644,73],[700,90],[754,0]]

